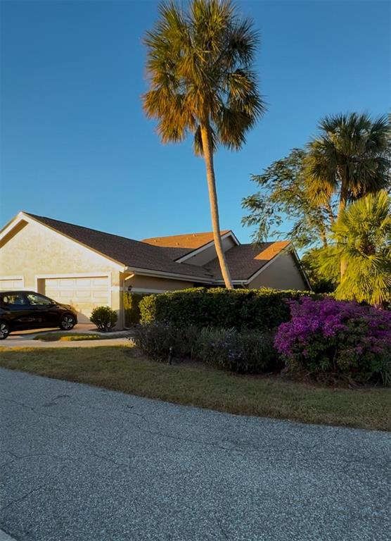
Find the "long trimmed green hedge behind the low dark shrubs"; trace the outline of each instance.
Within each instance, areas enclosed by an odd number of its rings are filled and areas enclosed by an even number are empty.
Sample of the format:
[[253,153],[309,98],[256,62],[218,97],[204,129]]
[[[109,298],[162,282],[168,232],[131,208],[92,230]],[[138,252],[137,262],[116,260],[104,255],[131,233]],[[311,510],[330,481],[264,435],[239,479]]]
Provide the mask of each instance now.
[[141,323],[172,323],[179,328],[269,330],[290,318],[287,299],[303,295],[319,298],[311,292],[226,290],[223,287],[196,287],[144,297],[140,302]]

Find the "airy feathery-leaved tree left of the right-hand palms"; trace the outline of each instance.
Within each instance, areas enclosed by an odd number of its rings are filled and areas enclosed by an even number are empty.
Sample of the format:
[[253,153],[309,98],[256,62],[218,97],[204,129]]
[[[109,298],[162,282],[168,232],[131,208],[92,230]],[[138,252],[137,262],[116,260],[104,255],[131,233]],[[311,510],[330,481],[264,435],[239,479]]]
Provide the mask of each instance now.
[[[327,246],[327,234],[335,218],[332,197],[314,201],[305,178],[306,152],[293,149],[286,158],[274,161],[262,175],[252,175],[259,190],[242,201],[250,214],[244,225],[257,225],[255,242],[269,235],[288,237],[297,248],[321,243]],[[290,228],[286,228],[290,225]]]

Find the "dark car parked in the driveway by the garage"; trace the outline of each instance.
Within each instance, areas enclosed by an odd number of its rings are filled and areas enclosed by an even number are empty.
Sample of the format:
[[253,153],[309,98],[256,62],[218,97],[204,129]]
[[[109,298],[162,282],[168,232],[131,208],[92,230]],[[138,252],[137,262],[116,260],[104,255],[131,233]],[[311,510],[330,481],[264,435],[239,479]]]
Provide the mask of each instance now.
[[70,330],[77,313],[69,304],[60,304],[34,291],[0,292],[0,340],[13,330],[60,327]]

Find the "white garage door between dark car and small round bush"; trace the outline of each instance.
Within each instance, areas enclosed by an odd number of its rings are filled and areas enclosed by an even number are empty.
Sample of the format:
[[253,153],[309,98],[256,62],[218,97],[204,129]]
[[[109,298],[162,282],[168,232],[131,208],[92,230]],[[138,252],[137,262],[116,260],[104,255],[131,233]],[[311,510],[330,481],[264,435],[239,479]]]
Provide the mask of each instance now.
[[96,306],[110,306],[108,276],[45,278],[44,294],[55,301],[72,304],[81,323],[88,321]]

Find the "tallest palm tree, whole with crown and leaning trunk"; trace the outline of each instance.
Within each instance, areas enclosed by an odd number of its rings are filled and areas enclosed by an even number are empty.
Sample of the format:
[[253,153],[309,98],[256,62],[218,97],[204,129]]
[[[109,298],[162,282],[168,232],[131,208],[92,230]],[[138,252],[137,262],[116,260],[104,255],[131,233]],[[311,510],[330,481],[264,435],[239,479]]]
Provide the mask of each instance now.
[[143,94],[149,118],[158,120],[163,143],[194,136],[205,159],[214,244],[226,287],[232,282],[222,248],[213,155],[219,144],[240,149],[264,111],[252,65],[257,32],[230,0],[192,0],[188,10],[160,4],[147,32],[150,89]]

